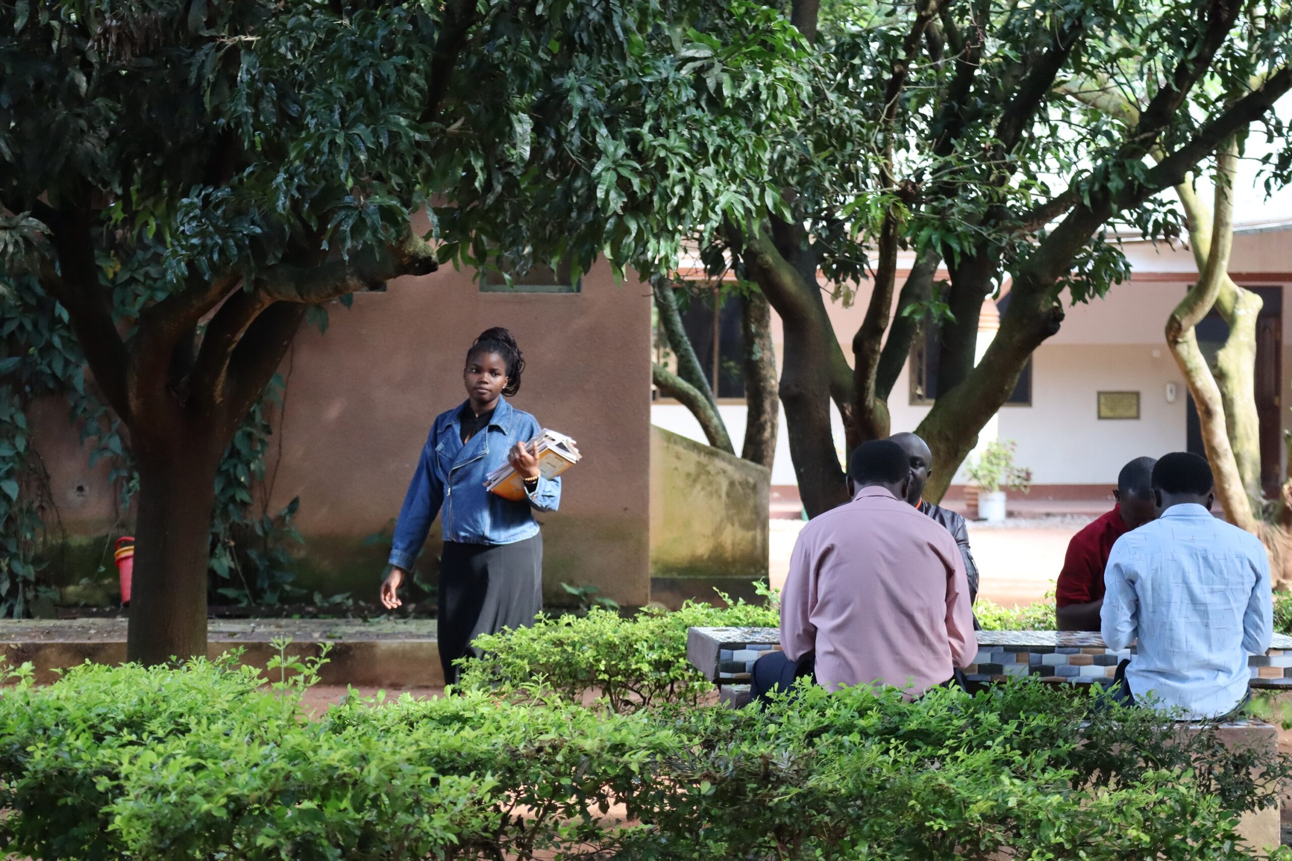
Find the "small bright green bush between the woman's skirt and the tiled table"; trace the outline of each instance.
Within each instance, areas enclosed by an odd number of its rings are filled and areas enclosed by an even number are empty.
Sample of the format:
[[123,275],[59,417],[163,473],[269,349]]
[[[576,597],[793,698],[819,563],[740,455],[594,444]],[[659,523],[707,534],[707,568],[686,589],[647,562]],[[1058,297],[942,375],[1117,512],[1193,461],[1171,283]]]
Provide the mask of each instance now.
[[521,698],[540,689],[571,702],[594,691],[615,713],[664,702],[694,706],[713,684],[686,661],[687,629],[743,625],[779,625],[778,611],[687,602],[676,612],[647,608],[628,620],[601,607],[581,617],[544,616],[534,627],[477,638],[484,657],[464,663],[461,687]]

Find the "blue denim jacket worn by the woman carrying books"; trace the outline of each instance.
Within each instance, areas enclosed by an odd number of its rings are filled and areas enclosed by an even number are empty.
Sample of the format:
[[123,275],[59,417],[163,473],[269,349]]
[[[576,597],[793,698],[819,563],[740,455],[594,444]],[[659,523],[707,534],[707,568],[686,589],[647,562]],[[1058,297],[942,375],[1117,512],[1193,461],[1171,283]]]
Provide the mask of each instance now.
[[486,476],[506,463],[517,443],[528,443],[543,427],[530,413],[499,398],[488,427],[463,444],[461,407],[435,417],[421,449],[417,471],[408,483],[390,564],[411,571],[437,514],[444,541],[506,545],[539,533],[534,511],[556,511],[561,505],[561,479],[539,479],[528,500],[512,502],[484,489]]

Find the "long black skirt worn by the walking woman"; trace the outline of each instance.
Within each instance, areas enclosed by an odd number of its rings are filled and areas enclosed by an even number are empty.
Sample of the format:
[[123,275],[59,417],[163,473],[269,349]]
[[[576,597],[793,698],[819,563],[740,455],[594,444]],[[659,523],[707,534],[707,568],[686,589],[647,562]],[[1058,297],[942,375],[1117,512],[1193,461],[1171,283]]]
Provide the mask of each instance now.
[[439,662],[457,684],[453,662],[479,657],[481,634],[530,627],[543,609],[543,533],[509,545],[444,542],[439,562]]

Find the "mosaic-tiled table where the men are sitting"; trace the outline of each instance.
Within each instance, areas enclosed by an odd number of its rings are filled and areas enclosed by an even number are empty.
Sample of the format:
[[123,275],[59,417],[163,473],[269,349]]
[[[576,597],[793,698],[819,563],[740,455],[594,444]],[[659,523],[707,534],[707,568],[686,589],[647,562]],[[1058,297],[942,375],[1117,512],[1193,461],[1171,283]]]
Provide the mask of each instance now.
[[[720,685],[747,684],[753,662],[780,648],[775,627],[693,627],[686,658]],[[970,682],[1035,675],[1045,682],[1090,684],[1109,680],[1134,648],[1114,652],[1094,633],[978,631],[978,657],[965,669]],[[1292,688],[1292,636],[1274,635],[1265,654],[1248,658],[1253,688]]]

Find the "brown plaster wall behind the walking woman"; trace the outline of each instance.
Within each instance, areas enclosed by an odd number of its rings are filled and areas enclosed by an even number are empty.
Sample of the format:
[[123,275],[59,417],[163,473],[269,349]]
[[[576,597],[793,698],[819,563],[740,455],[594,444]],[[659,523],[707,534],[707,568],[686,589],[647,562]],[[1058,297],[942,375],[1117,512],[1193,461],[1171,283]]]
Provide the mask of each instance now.
[[[269,458],[270,510],[301,498],[302,585],[375,598],[385,551],[363,538],[398,514],[432,420],[465,398],[472,341],[503,325],[528,363],[513,403],[574,436],[584,454],[566,475],[561,511],[543,516],[548,594],[568,582],[623,604],[647,602],[647,287],[616,284],[598,263],[580,293],[481,293],[470,274],[444,268],[328,310],[327,333],[302,329],[283,363],[286,404],[273,420]],[[118,514],[106,470],[87,466],[66,407],[49,400],[34,413],[67,532],[110,531]],[[438,527],[421,569],[433,573],[437,556]]]

